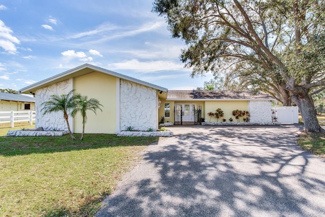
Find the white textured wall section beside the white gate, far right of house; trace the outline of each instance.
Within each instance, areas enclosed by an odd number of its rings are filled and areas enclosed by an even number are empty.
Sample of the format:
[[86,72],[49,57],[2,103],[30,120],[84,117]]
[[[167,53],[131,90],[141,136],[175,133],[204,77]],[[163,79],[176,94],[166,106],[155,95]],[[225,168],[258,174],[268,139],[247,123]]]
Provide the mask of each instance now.
[[250,101],[248,103],[249,122],[269,123],[272,122],[270,101]]

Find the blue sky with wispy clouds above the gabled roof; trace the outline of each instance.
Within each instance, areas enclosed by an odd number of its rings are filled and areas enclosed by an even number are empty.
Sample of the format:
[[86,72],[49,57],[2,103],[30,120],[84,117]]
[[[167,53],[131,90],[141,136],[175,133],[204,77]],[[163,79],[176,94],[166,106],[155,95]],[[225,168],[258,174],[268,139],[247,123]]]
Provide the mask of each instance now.
[[179,60],[152,1],[0,0],[0,88],[19,90],[88,63],[168,89],[203,86]]

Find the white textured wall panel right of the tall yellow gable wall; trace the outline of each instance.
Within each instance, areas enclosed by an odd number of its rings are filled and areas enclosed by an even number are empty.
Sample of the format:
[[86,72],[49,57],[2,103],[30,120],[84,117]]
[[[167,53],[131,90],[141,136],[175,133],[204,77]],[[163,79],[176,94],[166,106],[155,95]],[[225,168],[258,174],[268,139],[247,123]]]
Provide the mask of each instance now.
[[157,90],[120,80],[120,130],[134,127],[146,131],[158,127]]

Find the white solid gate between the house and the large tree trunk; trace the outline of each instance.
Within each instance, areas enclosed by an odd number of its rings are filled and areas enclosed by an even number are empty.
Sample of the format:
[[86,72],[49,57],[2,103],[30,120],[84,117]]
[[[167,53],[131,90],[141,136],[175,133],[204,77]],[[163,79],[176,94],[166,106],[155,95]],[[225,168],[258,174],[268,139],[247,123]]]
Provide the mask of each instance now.
[[299,123],[298,106],[277,106],[272,107],[272,120],[274,117],[280,123]]

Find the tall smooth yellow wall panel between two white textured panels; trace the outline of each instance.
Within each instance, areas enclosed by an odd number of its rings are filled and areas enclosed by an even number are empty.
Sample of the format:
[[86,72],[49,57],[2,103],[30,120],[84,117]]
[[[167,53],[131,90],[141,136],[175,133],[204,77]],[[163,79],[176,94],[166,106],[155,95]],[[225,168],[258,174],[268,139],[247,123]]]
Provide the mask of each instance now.
[[[95,98],[103,105],[103,111],[97,110],[96,115],[87,111],[85,133],[116,133],[116,77],[92,72],[75,77],[73,88],[77,93]],[[74,133],[82,132],[80,113],[74,118]]]

